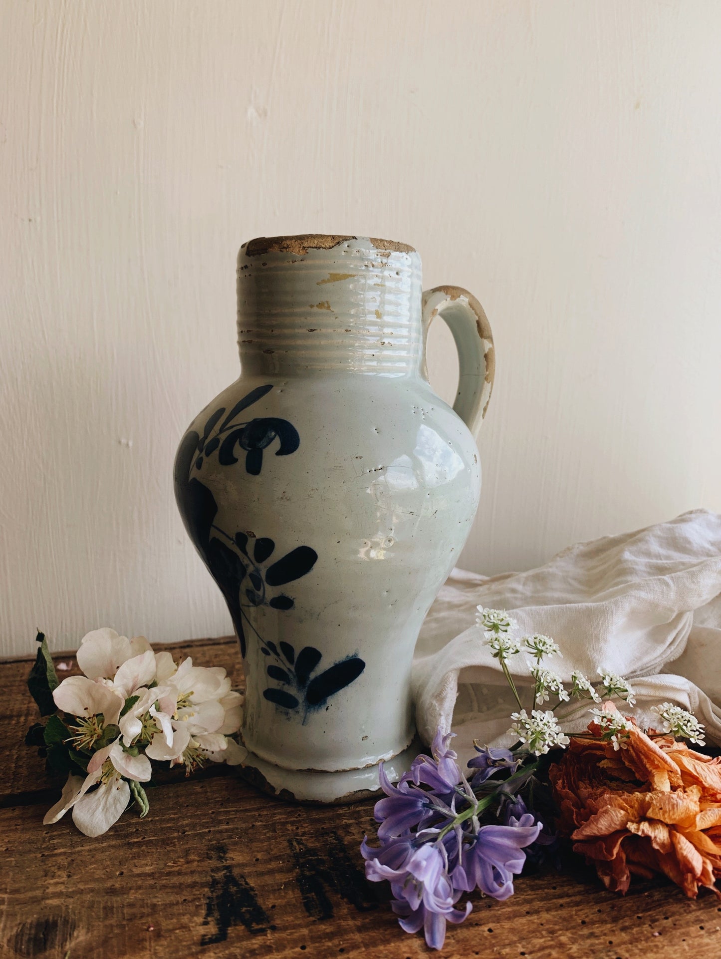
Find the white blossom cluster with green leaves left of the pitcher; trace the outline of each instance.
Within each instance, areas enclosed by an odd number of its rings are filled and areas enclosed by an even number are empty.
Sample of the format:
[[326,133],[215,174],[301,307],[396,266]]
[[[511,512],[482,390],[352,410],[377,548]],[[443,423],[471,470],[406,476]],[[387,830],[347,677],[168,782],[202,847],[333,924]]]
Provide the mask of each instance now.
[[52,772],[67,772],[58,803],[43,822],[56,823],[69,809],[88,836],[108,830],[133,800],[148,812],[143,783],[151,760],[184,765],[190,773],[207,761],[237,764],[243,750],[232,738],[241,726],[242,697],[220,667],[175,663],[153,652],[143,636],[128,640],[96,629],[81,641],[83,675],[58,682],[42,633],[28,686],[46,723],[26,737],[47,756]]

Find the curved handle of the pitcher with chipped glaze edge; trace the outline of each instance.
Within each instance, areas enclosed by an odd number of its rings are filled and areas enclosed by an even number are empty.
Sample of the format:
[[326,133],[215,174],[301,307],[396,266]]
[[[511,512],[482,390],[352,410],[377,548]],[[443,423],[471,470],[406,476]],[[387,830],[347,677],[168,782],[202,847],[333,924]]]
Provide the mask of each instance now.
[[430,324],[442,316],[458,351],[458,392],[454,411],[476,436],[488,409],[496,375],[491,324],[473,293],[461,287],[434,287],[423,293],[423,375]]

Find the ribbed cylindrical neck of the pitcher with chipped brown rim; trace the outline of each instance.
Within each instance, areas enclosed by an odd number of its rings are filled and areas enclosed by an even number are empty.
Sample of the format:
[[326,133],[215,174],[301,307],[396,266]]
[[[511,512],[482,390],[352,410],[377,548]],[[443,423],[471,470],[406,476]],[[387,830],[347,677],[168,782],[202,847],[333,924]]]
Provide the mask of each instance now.
[[244,372],[410,376],[420,367],[421,260],[367,237],[251,240],[238,254]]

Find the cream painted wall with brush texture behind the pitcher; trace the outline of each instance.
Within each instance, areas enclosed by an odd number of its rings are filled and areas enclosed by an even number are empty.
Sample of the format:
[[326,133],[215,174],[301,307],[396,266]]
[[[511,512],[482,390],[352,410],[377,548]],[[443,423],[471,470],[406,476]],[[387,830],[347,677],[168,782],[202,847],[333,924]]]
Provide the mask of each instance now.
[[230,630],[171,467],[257,235],[403,240],[483,303],[467,567],[721,509],[715,0],[0,11],[0,651]]

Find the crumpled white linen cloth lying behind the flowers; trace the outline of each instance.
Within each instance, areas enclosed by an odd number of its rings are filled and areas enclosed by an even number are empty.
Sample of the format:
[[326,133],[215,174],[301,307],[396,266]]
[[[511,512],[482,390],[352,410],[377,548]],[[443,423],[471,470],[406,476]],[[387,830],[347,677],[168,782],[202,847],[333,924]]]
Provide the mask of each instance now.
[[[421,738],[430,743],[437,728],[453,731],[463,760],[474,738],[509,745],[510,714],[518,709],[476,625],[479,604],[507,610],[518,621],[515,635],[552,637],[562,657],[544,666],[565,682],[572,669],[592,682],[599,672],[616,673],[636,690],[636,708],[623,712],[653,725],[651,706],[674,702],[706,726],[708,743],[721,744],[718,514],[695,509],[670,523],[579,543],[528,573],[454,570],[418,638],[413,694]],[[509,661],[528,712],[529,660],[522,652]],[[590,719],[576,713],[563,727],[577,732]]]

